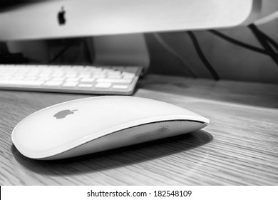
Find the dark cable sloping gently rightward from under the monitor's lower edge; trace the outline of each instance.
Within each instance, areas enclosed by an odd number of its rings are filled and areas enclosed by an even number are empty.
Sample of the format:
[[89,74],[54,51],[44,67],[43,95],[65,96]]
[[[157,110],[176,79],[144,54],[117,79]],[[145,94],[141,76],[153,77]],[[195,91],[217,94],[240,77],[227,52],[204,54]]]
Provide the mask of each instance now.
[[249,49],[249,50],[252,50],[252,51],[256,51],[256,52],[258,52],[258,53],[260,53],[260,54],[266,54],[266,55],[269,54],[269,53],[268,53],[267,51],[265,51],[264,49],[260,49],[260,48],[258,48],[258,47],[256,47],[256,46],[252,46],[252,45],[246,44],[246,43],[244,43],[244,42],[242,42],[242,41],[238,41],[238,40],[236,40],[236,39],[231,38],[230,36],[227,36],[227,35],[225,35],[225,34],[220,33],[219,31],[215,31],[215,30],[208,30],[208,31],[209,31],[210,33],[212,33],[212,34],[215,34],[215,36],[219,36],[219,37],[222,38],[222,39],[225,39],[225,40],[227,40],[227,41],[230,41],[232,44],[236,44],[237,46],[242,46],[242,47],[244,47],[244,48],[246,48],[246,49]]

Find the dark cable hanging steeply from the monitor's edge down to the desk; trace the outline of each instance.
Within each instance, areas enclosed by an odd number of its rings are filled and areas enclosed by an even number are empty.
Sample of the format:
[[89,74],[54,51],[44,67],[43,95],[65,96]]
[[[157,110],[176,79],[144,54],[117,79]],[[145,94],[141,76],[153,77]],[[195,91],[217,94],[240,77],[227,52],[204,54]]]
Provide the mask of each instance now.
[[215,81],[219,81],[220,77],[218,76],[217,72],[212,67],[210,62],[205,57],[205,54],[202,52],[202,49],[200,47],[200,44],[199,44],[195,34],[193,34],[192,31],[187,31],[187,34],[190,36],[190,39],[192,40],[192,43],[194,44],[194,47],[195,47],[195,49],[197,51],[197,54],[199,55],[199,57],[202,60],[203,64],[205,64],[205,66],[207,67],[208,71],[210,71],[210,74],[212,74],[212,77],[215,79]]

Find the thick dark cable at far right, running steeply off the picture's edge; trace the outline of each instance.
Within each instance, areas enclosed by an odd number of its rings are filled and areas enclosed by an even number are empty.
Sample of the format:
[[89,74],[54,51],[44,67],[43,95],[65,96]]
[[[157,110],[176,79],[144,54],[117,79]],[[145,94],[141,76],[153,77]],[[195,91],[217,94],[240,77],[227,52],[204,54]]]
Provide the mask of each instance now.
[[248,27],[249,29],[251,29],[254,36],[256,36],[259,43],[262,44],[264,49],[269,52],[269,56],[278,66],[278,54],[276,54],[275,51],[272,49],[272,47],[269,45],[266,36],[262,34],[262,31],[259,31],[256,25],[250,24]]

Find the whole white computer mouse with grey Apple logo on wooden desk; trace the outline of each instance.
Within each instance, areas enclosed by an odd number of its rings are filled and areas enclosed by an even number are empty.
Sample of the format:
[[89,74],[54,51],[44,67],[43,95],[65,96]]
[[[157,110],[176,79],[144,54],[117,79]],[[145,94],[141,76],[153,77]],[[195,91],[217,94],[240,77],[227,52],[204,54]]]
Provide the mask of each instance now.
[[208,123],[162,101],[98,96],[36,111],[16,125],[11,139],[31,159],[65,159],[189,133]]

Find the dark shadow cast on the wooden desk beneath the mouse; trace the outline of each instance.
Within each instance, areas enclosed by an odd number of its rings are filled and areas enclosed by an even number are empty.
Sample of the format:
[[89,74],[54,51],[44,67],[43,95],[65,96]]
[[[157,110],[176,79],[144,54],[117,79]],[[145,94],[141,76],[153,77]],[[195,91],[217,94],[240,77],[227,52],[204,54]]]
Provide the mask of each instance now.
[[88,154],[86,156],[52,161],[29,159],[23,156],[14,144],[11,146],[11,152],[16,161],[28,171],[36,174],[61,176],[104,171],[150,161],[163,156],[170,156],[171,154],[195,149],[209,143],[212,139],[212,135],[206,131],[194,131],[189,134],[172,136],[143,144],[135,144]]

